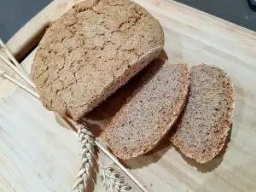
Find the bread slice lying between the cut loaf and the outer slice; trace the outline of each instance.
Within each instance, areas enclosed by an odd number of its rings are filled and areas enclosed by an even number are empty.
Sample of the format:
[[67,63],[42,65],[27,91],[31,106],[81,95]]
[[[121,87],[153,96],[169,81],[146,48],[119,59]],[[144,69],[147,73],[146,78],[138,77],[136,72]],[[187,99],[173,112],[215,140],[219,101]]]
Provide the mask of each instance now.
[[160,142],[181,113],[189,89],[187,64],[157,60],[143,71],[137,91],[102,133],[113,154],[130,159]]

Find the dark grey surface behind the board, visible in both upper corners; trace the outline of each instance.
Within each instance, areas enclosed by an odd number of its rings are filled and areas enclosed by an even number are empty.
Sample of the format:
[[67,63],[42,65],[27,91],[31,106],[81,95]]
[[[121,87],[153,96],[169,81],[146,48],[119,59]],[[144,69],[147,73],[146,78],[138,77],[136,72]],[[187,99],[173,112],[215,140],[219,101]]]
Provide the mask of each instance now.
[[[7,42],[50,2],[51,0],[0,0],[0,38]],[[247,0],[177,0],[177,2],[256,32],[256,12],[249,8]]]

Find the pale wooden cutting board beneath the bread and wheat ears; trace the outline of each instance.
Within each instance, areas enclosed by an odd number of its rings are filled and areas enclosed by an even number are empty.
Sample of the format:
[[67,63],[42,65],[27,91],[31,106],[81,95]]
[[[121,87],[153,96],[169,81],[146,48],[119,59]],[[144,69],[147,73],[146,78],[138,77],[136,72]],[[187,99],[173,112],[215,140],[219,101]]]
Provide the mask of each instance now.
[[[224,68],[234,82],[236,106],[228,142],[214,160],[200,165],[164,140],[150,154],[123,163],[148,191],[256,191],[256,33],[171,0],[135,2],[164,28],[166,44],[160,56]],[[45,28],[74,3],[79,1],[55,0],[9,40],[15,56],[26,58],[22,65],[27,72]],[[9,71],[2,61],[0,68]],[[113,96],[118,103],[126,90]],[[113,97],[84,118],[92,130],[101,131],[118,110]],[[71,191],[79,169],[77,137],[35,98],[3,79],[0,150],[0,191]],[[104,191],[101,184],[94,190]]]

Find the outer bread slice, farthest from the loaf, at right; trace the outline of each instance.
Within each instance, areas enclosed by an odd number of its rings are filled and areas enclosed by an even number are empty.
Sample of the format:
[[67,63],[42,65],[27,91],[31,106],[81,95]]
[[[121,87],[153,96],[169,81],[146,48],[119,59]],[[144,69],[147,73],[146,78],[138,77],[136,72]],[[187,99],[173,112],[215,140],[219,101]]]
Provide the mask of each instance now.
[[218,67],[201,64],[190,71],[188,102],[177,120],[172,143],[205,163],[223,148],[234,108],[231,79]]

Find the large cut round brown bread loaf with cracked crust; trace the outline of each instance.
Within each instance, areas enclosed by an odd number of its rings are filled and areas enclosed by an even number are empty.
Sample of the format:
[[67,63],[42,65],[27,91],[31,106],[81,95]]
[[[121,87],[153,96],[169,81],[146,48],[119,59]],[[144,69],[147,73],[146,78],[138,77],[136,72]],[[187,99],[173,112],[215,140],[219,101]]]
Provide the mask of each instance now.
[[45,108],[80,119],[160,54],[160,23],[128,0],[89,0],[55,20],[32,80]]

